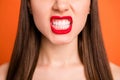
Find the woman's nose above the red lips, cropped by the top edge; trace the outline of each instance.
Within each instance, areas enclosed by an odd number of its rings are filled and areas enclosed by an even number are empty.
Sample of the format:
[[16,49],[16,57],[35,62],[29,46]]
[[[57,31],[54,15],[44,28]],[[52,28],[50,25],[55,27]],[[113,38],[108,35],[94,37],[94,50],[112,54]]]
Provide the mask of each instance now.
[[53,5],[53,10],[58,12],[65,12],[69,9],[67,0],[56,0]]

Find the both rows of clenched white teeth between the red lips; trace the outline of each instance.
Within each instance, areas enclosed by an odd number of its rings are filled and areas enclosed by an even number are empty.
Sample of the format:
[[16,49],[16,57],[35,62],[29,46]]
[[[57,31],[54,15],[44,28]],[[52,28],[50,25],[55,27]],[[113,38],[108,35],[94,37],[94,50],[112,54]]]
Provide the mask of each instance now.
[[68,20],[54,20],[52,22],[53,27],[56,29],[67,29],[70,26],[70,21]]

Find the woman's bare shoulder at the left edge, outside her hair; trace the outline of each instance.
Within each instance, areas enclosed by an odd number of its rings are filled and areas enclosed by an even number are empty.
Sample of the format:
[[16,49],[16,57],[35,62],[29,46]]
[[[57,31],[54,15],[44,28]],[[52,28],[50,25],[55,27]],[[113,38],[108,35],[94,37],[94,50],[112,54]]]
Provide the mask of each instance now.
[[0,80],[5,80],[8,71],[8,66],[9,63],[0,65]]

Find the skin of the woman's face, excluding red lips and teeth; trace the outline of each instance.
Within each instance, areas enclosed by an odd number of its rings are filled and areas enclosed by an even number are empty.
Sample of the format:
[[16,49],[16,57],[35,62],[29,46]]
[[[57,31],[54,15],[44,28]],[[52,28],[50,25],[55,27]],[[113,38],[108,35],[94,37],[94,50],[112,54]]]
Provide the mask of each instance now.
[[[90,0],[30,0],[30,5],[35,24],[45,40],[51,45],[66,45],[77,39],[83,29],[89,13]],[[51,16],[71,16],[72,31],[65,35],[51,32]]]

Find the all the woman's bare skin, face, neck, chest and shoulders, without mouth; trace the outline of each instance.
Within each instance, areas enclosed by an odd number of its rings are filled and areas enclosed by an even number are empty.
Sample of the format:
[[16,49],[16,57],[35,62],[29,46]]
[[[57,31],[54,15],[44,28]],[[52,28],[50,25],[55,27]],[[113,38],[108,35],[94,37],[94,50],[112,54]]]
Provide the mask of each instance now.
[[[86,80],[78,57],[77,38],[89,14],[90,0],[30,0],[28,4],[35,24],[43,34],[33,80]],[[51,31],[50,17],[55,15],[72,17],[70,33],[58,35]],[[5,80],[8,65],[1,66],[0,80]],[[119,67],[110,65],[114,80],[120,79]]]

